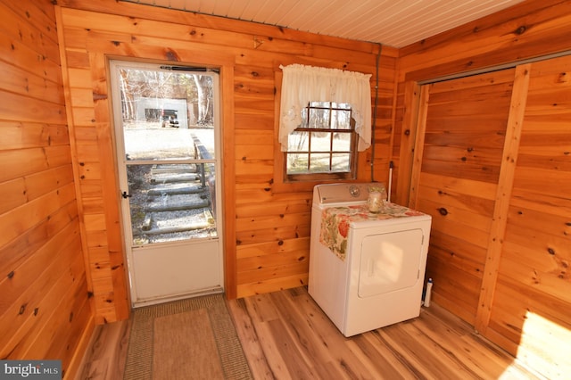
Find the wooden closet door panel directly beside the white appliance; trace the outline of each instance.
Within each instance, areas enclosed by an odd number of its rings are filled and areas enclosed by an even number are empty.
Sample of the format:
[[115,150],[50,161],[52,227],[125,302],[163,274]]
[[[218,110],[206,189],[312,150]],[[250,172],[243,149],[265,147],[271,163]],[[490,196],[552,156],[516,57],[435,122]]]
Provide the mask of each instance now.
[[515,70],[421,89],[410,205],[433,216],[433,299],[475,325]]

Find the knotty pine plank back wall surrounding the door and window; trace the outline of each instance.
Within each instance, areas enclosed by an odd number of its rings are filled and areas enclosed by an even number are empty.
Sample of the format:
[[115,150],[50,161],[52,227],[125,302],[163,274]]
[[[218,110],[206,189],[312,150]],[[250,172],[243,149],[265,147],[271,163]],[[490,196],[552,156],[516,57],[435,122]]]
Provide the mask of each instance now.
[[[97,322],[125,318],[128,308],[120,289],[126,286],[124,273],[110,270],[124,261],[119,191],[110,178],[115,169],[107,56],[221,68],[227,295],[306,284],[314,184],[289,186],[280,177],[279,65],[295,62],[372,74],[374,96],[379,46],[113,0],[58,4]],[[396,55],[396,49],[383,48],[379,60],[374,165],[379,181],[387,180],[392,151]],[[370,180],[371,157],[371,149],[360,154],[358,180]],[[109,265],[97,265],[102,261]]]

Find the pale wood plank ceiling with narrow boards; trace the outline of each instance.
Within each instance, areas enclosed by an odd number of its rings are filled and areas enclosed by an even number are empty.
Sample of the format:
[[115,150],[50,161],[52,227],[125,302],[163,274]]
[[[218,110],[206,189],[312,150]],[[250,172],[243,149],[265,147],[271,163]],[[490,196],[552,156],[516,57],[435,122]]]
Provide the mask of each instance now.
[[524,0],[122,0],[402,47]]

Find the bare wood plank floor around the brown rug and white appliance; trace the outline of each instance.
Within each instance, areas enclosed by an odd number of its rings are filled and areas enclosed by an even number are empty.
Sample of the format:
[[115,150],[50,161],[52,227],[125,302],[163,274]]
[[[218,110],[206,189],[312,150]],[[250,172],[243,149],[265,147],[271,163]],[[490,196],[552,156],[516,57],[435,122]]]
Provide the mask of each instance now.
[[[436,304],[345,338],[306,288],[228,301],[256,379],[534,379]],[[122,378],[129,321],[98,326],[78,379]]]

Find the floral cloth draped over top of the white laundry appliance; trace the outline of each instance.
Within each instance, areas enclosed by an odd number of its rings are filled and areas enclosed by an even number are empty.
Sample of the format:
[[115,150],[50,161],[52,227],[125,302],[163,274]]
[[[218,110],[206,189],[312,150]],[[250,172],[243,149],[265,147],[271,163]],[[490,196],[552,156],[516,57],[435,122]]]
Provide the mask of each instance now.
[[349,235],[349,225],[352,221],[382,220],[418,215],[424,214],[394,203],[386,203],[383,212],[375,214],[368,211],[366,204],[329,207],[321,215],[319,242],[327,246],[339,259],[345,260],[347,235]]

